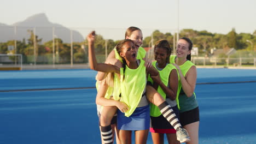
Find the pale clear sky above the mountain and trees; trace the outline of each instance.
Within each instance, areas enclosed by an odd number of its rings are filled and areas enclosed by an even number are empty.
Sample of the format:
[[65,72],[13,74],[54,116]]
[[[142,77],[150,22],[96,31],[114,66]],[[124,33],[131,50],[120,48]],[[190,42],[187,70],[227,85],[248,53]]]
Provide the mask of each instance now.
[[1,0],[0,3],[0,23],[7,25],[45,13],[50,22],[68,28],[112,29],[113,34],[115,29],[124,32],[130,26],[144,29],[143,33],[147,29],[173,33],[177,27],[222,34],[232,28],[237,33],[252,34],[256,30],[256,0],[179,0],[179,4],[178,0]]

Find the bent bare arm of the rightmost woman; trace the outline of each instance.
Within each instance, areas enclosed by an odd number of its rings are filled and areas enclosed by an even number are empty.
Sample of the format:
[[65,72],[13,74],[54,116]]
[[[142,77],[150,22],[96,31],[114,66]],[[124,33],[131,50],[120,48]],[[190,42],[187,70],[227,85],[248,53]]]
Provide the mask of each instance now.
[[173,64],[178,69],[179,79],[182,83],[182,89],[187,97],[191,97],[195,91],[196,86],[196,67],[192,66],[189,70],[187,75],[184,77],[182,74],[181,69],[177,64]]

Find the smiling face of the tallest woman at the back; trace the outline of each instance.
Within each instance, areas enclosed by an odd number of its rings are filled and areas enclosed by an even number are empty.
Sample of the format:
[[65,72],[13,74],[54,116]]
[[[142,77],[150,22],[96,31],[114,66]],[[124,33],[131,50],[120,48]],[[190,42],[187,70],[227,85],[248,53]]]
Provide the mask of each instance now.
[[130,36],[126,36],[126,39],[132,40],[138,50],[139,46],[142,45],[143,35],[140,30],[136,30],[133,31]]

